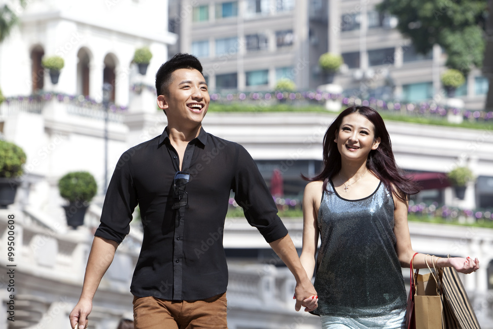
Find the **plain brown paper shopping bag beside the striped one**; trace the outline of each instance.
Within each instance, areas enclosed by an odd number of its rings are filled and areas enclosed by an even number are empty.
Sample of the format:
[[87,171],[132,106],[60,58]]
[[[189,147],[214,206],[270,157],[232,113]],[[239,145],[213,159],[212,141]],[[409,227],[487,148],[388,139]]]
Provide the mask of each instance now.
[[[428,266],[429,268],[429,266]],[[443,307],[440,281],[435,272],[414,276],[414,320],[416,329],[442,328]]]

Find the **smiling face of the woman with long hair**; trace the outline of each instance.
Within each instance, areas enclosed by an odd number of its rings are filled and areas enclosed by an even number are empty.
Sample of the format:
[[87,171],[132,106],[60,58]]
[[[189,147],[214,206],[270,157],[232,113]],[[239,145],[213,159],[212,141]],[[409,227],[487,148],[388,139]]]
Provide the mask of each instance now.
[[380,138],[375,139],[373,123],[359,113],[346,115],[339,126],[334,142],[341,157],[366,159],[372,149],[377,149]]

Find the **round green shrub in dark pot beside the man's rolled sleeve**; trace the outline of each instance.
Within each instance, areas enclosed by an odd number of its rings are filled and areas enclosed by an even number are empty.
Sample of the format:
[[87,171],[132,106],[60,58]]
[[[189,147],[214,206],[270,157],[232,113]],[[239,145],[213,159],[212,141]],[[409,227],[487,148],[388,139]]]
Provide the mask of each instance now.
[[68,206],[63,206],[67,224],[73,228],[82,225],[88,203],[98,190],[94,177],[86,171],[70,172],[58,181],[58,189],[62,198],[69,201]]

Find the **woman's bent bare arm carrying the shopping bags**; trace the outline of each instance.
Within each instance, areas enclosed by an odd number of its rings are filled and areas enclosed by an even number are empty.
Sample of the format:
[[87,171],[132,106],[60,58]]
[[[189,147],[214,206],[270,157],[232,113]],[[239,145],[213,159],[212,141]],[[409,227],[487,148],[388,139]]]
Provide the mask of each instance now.
[[[394,200],[394,234],[397,239],[395,245],[395,250],[402,267],[409,267],[411,258],[416,253],[411,246],[411,236],[409,234],[409,225],[407,222],[408,213],[408,203],[402,201],[395,194],[393,195]],[[452,258],[442,258],[436,256],[427,256],[425,259],[425,254],[418,254],[414,257],[413,267],[414,268],[427,268],[426,260],[428,265],[432,267],[431,261],[436,262],[437,267],[454,267],[458,272],[469,274],[476,271],[479,268],[478,258],[462,258],[462,257],[452,257]]]

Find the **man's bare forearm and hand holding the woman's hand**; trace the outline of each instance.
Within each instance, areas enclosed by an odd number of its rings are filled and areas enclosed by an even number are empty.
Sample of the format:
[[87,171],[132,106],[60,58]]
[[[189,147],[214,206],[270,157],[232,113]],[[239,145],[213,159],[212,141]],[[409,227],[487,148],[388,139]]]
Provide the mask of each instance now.
[[317,308],[317,292],[312,285],[312,282],[307,276],[307,272],[301,265],[300,258],[294,247],[293,240],[289,234],[281,239],[269,243],[271,248],[282,259],[287,268],[293,273],[296,279],[296,288],[294,289],[296,296],[295,310],[299,311],[301,306],[305,306],[305,311],[313,311]]

